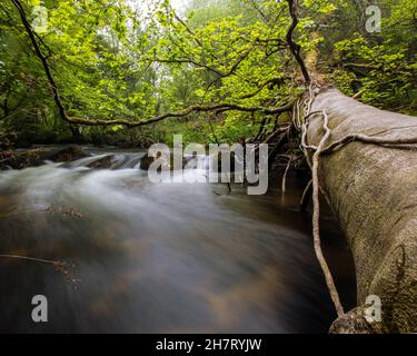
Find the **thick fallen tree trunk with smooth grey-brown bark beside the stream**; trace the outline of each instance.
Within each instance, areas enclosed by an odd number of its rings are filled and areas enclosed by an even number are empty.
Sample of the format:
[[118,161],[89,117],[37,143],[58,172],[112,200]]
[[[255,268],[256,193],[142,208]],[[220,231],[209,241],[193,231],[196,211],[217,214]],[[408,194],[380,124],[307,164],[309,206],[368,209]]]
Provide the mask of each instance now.
[[[331,131],[326,147],[353,134],[395,141],[417,138],[417,118],[383,111],[324,89],[314,99],[307,144]],[[334,333],[417,332],[417,145],[345,142],[320,156],[322,194],[339,219],[356,267],[358,307]],[[381,299],[381,322],[364,318],[366,298]]]

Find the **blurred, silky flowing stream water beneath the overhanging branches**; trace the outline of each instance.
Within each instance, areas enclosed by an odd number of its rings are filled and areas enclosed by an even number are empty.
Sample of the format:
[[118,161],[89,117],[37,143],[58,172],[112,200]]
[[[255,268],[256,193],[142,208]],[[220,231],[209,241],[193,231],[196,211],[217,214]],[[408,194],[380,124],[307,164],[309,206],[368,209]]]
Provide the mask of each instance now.
[[[320,333],[335,312],[299,188],[247,196],[234,185],[152,184],[143,152],[110,169],[70,164],[0,172],[0,332]],[[91,165],[90,165],[91,166]],[[325,253],[347,307],[349,251],[322,216]],[[48,298],[48,323],[31,299]]]

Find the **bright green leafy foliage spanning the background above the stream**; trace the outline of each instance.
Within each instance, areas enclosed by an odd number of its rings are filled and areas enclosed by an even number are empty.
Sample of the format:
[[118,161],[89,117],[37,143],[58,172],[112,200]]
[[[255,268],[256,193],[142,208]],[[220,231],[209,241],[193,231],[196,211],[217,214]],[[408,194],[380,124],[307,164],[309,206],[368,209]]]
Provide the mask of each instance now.
[[[70,116],[137,121],[190,105],[278,107],[304,89],[286,46],[291,22],[287,1],[193,0],[179,13],[162,0],[21,2],[31,21],[36,6],[48,10],[38,41]],[[415,1],[378,1],[380,33],[365,31],[360,1],[298,2],[295,40],[325,80],[347,95],[361,91],[361,100],[374,106],[416,110]],[[0,128],[22,140],[79,139],[58,116],[11,1],[0,3]],[[258,113],[227,111],[192,113],[132,131],[113,126],[79,132],[100,144],[148,145],[178,132],[186,141],[208,142],[215,140],[209,119],[222,141],[254,137],[262,121]]]

